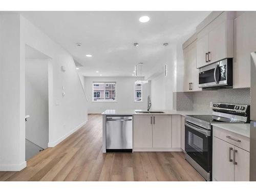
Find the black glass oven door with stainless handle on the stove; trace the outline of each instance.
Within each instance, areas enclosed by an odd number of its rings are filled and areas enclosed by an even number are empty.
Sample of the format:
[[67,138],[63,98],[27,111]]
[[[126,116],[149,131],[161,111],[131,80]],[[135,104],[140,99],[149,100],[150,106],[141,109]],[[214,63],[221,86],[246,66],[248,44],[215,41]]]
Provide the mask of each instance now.
[[185,151],[206,172],[211,170],[211,131],[185,122]]

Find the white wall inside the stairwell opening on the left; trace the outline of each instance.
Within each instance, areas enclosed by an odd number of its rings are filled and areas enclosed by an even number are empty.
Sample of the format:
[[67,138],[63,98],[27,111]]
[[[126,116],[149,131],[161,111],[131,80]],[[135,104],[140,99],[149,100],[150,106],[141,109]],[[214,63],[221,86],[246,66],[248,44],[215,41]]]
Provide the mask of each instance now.
[[[26,139],[42,148],[47,148],[48,59],[26,59],[26,115],[30,115],[26,122]],[[26,153],[28,150],[26,148]]]

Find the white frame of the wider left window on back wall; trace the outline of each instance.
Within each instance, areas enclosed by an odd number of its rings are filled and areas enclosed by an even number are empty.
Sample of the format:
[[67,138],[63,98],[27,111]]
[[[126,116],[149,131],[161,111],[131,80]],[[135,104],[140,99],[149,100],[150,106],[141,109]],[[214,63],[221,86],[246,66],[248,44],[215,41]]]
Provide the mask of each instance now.
[[[94,84],[99,84],[99,86],[95,86],[95,87],[100,87],[100,84],[104,84],[104,90],[94,90]],[[106,87],[106,84],[114,84],[114,88],[115,90],[106,90],[105,87]],[[104,99],[99,99],[99,100],[94,100],[94,92],[100,92],[100,91],[104,91]],[[106,91],[109,92],[109,97],[110,97],[110,91],[115,91],[115,99],[109,99],[109,98],[106,98]],[[116,98],[116,82],[93,82],[92,83],[92,102],[117,102],[117,98]]]

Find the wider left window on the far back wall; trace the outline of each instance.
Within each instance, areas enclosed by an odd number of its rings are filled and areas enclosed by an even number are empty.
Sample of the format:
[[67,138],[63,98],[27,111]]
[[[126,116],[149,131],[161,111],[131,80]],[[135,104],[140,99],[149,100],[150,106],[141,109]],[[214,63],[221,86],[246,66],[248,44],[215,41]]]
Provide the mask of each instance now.
[[115,82],[93,82],[93,101],[115,101]]

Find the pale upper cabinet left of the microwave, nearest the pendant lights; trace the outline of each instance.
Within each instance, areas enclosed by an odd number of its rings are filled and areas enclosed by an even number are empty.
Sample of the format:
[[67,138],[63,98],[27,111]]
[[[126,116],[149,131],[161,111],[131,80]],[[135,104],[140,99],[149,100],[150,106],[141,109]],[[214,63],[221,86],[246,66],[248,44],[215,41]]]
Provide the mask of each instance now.
[[184,79],[183,91],[201,91],[198,87],[196,34],[183,44]]

